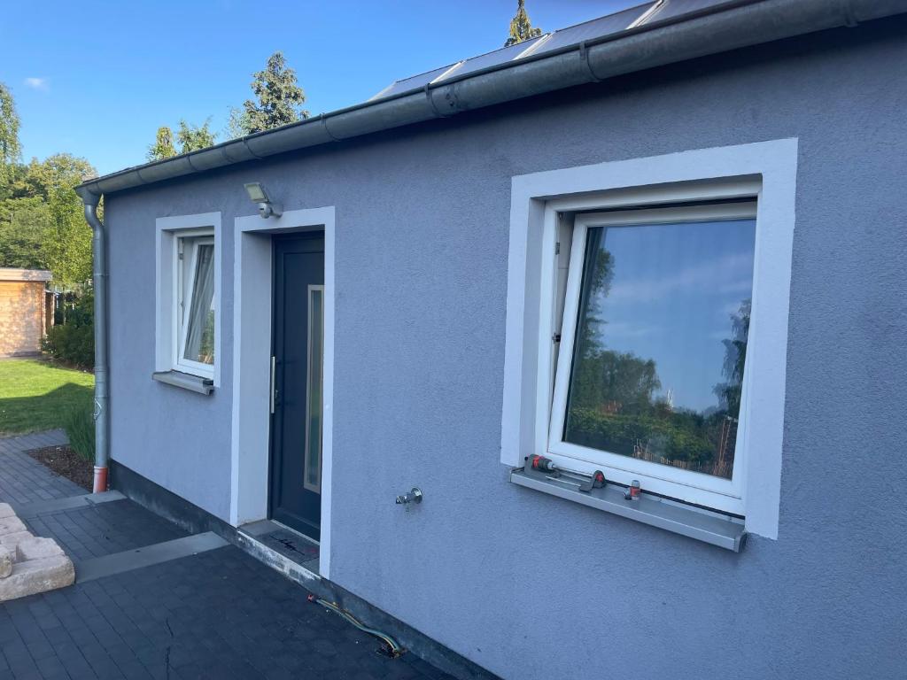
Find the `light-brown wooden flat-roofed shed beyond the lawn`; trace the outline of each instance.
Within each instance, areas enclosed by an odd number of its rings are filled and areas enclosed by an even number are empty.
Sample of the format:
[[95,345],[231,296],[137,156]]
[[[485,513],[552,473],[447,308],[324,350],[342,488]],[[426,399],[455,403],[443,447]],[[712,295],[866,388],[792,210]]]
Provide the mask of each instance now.
[[54,325],[54,296],[44,269],[0,267],[0,356],[37,355]]

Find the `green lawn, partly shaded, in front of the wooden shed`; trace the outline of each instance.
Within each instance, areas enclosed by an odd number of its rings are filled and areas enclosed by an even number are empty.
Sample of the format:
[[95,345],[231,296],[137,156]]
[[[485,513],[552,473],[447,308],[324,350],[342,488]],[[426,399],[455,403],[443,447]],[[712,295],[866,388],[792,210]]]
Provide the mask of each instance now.
[[0,360],[0,435],[63,427],[74,408],[91,410],[94,376],[33,359]]

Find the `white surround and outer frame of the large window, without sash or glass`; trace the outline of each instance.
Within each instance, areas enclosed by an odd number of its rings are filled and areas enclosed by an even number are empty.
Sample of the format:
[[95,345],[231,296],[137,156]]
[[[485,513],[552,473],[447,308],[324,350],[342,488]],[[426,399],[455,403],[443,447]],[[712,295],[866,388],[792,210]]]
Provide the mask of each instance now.
[[[705,495],[697,497],[697,492],[688,491],[695,487],[674,479],[655,482],[654,474],[643,481],[638,469],[621,473],[618,466],[611,479],[622,481],[632,474],[632,479],[644,482],[644,490],[648,485],[649,491],[741,515],[747,531],[777,538],[796,159],[797,141],[778,140],[512,178],[502,463],[518,467],[532,453],[548,453],[555,460],[563,455],[550,452],[548,446],[556,349],[551,336],[560,327],[557,282],[566,273],[566,248],[561,248],[561,256],[555,255],[559,238],[567,233],[561,216],[624,206],[655,208],[756,199],[753,307],[744,378],[746,413],[742,404],[737,434],[738,451],[746,453],[733,482],[739,487],[723,490],[729,493],[701,490]],[[566,326],[561,328],[561,333],[566,330]],[[564,457],[562,463],[583,471],[600,467],[572,457]],[[685,472],[697,478],[707,476]]]

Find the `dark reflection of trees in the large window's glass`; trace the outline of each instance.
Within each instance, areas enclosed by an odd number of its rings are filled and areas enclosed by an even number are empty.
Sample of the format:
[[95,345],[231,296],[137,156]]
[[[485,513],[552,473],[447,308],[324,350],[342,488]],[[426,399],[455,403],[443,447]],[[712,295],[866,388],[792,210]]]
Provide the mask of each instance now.
[[580,319],[574,351],[564,440],[602,451],[658,462],[684,470],[731,478],[749,300],[731,316],[725,345],[727,383],[716,385],[717,408],[697,412],[674,408],[658,395],[656,362],[608,349],[595,316],[594,300],[607,296],[614,257],[602,247],[604,229],[590,229],[580,290]]

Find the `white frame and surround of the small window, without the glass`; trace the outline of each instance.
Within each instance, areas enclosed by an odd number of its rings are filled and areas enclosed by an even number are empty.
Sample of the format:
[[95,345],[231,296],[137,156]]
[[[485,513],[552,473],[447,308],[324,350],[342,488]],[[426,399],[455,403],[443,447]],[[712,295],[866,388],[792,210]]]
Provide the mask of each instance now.
[[[220,271],[222,248],[220,244],[220,213],[180,215],[155,220],[156,226],[156,317],[155,317],[155,372],[177,371],[220,386],[221,301]],[[180,248],[184,239],[193,239],[185,248],[183,257],[190,257],[188,280],[184,281],[184,267],[180,261]],[[183,358],[186,324],[188,318],[181,314],[181,306],[191,306],[194,294],[197,250],[202,243],[214,246],[214,364],[203,364]],[[187,287],[189,287],[187,289]],[[185,299],[183,293],[185,291]]]

